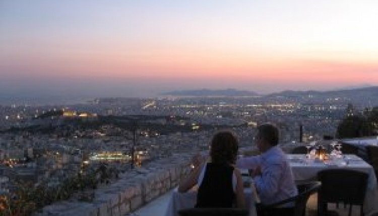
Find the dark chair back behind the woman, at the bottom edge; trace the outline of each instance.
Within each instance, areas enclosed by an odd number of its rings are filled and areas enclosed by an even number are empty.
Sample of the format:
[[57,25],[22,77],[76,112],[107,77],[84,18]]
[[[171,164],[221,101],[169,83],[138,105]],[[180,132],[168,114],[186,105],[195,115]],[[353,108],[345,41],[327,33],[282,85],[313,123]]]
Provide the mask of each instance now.
[[247,216],[247,208],[184,208],[178,210],[180,216]]

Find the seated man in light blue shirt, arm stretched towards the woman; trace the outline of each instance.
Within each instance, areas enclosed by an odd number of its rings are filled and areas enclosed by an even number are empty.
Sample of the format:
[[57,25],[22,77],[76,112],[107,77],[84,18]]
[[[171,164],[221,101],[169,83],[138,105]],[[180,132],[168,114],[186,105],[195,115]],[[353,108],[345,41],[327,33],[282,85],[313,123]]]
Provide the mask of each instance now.
[[273,124],[258,127],[256,143],[261,155],[236,161],[239,168],[249,169],[264,205],[272,204],[298,194],[289,162],[277,146],[278,128]]

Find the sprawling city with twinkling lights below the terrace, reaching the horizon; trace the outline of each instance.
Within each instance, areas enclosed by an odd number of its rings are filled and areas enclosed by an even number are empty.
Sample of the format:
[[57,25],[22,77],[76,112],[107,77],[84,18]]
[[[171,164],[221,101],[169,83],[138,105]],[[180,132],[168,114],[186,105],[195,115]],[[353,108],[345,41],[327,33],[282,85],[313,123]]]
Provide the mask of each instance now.
[[[233,130],[240,146],[253,151],[256,127],[265,122],[279,127],[282,147],[327,136],[339,138],[337,130],[343,119],[363,116],[378,105],[373,97],[355,97],[361,90],[376,92],[376,87],[354,89],[352,95],[346,90],[338,97],[329,97],[329,92],[170,95],[94,98],[71,105],[1,106],[1,191],[17,197],[25,185],[37,190],[42,185],[61,188],[73,181],[85,182],[59,194],[61,199],[73,199],[76,190],[93,190],[161,159],[206,151],[212,135],[220,129]],[[83,197],[77,199],[90,199]],[[48,203],[36,202],[26,208],[38,209]]]

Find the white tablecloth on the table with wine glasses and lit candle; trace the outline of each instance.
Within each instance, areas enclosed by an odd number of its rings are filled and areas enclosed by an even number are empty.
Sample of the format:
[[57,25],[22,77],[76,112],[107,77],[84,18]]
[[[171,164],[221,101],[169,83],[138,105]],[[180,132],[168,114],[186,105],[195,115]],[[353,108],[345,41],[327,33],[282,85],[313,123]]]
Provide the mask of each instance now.
[[305,155],[289,154],[290,167],[296,181],[316,180],[317,173],[325,169],[352,169],[368,174],[367,189],[364,201],[365,214],[378,210],[378,189],[373,167],[355,155],[344,155],[341,165],[327,165],[322,162],[308,162]]

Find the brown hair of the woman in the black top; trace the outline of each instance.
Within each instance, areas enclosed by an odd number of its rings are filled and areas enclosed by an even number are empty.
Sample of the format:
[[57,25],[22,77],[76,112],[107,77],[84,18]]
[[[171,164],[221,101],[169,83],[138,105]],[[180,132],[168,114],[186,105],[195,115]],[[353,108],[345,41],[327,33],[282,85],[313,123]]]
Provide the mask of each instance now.
[[211,140],[211,161],[213,163],[234,164],[236,162],[238,148],[238,140],[234,133],[231,131],[220,131],[216,133]]

